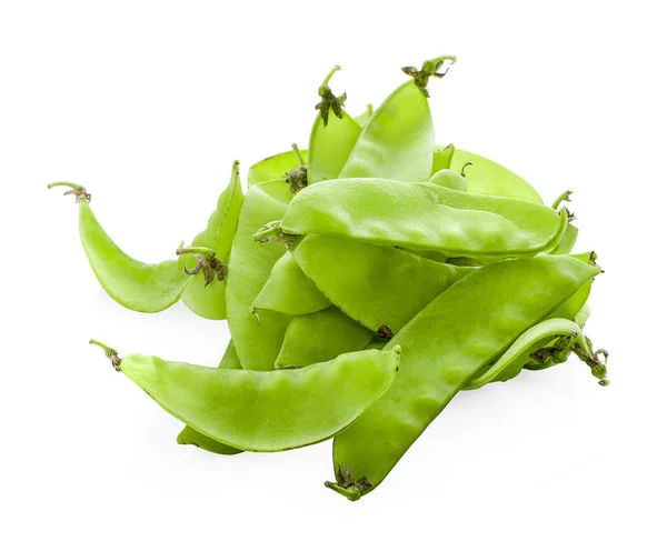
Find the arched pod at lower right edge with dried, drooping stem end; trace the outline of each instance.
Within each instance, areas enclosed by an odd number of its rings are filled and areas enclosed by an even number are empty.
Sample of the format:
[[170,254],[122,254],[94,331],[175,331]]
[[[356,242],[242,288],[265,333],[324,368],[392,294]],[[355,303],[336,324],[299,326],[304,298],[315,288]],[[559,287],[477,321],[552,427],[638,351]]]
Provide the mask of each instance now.
[[[551,344],[548,347],[548,344]],[[526,363],[538,358],[539,363],[550,360],[549,364],[563,363],[574,347],[587,354],[590,363],[599,363],[600,372],[606,375],[606,367],[591,352],[584,331],[574,321],[555,318],[541,321],[528,329],[509,347],[500,358],[494,360],[485,373],[468,381],[464,390],[474,390],[490,382],[508,381],[518,375]],[[600,379],[606,384],[606,377]]]

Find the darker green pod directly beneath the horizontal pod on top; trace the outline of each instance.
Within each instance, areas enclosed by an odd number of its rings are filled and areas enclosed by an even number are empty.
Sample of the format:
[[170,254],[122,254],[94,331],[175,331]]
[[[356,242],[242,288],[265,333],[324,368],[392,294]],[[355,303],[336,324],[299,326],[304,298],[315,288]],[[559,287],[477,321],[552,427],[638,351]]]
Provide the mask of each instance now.
[[385,337],[398,332],[445,289],[475,270],[321,234],[303,238],[292,256],[334,304]]

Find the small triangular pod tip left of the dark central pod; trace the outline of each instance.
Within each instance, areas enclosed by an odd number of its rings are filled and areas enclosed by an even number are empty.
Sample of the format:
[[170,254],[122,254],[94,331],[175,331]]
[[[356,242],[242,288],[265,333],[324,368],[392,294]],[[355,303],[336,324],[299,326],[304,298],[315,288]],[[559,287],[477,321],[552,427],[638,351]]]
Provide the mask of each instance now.
[[292,253],[286,251],[273,264],[271,274],[252,301],[250,311],[255,313],[262,309],[287,315],[303,315],[330,305],[331,301],[308,279]]

